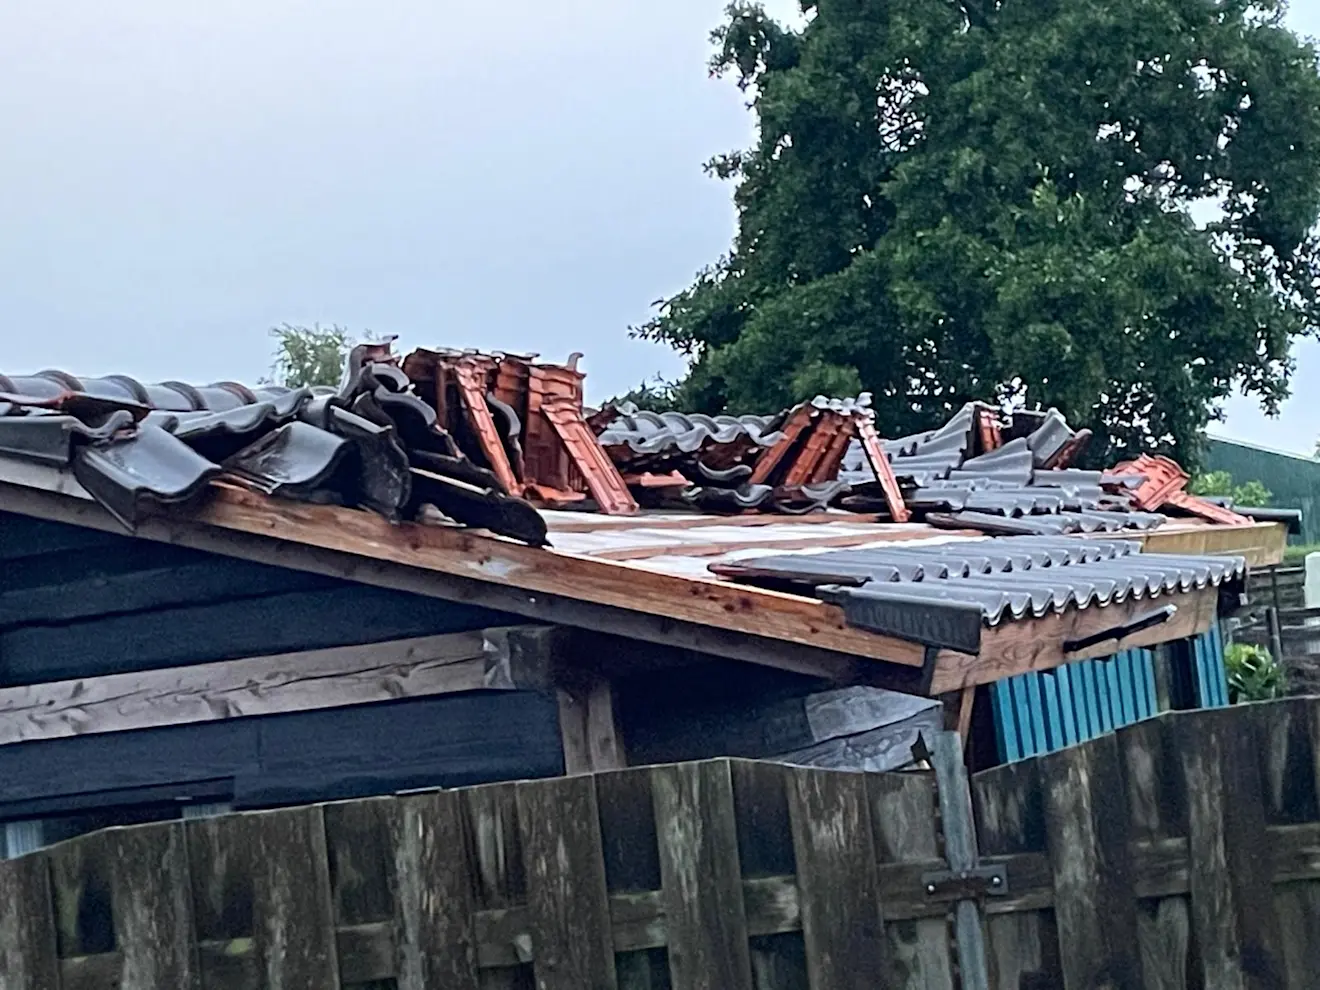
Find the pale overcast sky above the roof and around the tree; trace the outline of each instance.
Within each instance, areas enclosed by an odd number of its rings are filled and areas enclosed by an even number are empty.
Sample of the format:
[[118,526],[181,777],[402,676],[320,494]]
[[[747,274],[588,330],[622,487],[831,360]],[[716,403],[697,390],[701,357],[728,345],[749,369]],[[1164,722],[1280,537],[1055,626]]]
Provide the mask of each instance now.
[[[252,381],[288,321],[583,351],[594,397],[678,374],[627,326],[734,232],[722,7],[0,0],[0,371]],[[1282,418],[1218,432],[1309,453],[1299,359]]]

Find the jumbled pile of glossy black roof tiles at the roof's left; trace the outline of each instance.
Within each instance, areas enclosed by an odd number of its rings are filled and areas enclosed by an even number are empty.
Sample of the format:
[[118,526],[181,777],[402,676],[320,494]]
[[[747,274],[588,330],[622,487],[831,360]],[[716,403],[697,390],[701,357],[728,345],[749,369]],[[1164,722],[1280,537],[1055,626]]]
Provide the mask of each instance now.
[[354,348],[338,389],[0,376],[0,455],[71,469],[129,528],[226,480],[391,520],[429,507],[533,545],[546,535],[531,504],[463,455],[388,343]]

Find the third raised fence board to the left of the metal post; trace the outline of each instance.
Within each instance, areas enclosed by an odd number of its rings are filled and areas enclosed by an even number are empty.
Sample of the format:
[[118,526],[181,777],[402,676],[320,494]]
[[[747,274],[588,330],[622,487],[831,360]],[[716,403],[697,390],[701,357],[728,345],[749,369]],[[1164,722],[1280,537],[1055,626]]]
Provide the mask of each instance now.
[[517,817],[539,990],[615,990],[595,781],[519,784]]

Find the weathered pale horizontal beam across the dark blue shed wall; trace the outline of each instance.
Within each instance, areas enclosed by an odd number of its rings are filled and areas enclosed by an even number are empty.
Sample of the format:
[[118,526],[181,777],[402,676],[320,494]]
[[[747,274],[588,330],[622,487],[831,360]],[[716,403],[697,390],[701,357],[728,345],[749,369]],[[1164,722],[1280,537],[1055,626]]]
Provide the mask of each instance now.
[[[0,746],[312,711],[465,690],[545,686],[540,630],[487,630],[0,690]],[[529,645],[531,644],[531,645]]]

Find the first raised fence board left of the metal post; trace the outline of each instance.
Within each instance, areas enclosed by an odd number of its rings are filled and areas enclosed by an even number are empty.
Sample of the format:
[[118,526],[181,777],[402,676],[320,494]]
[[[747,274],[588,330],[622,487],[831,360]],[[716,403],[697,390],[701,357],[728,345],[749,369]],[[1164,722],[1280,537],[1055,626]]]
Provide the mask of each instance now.
[[886,945],[866,777],[795,768],[787,779],[812,986],[874,987]]

